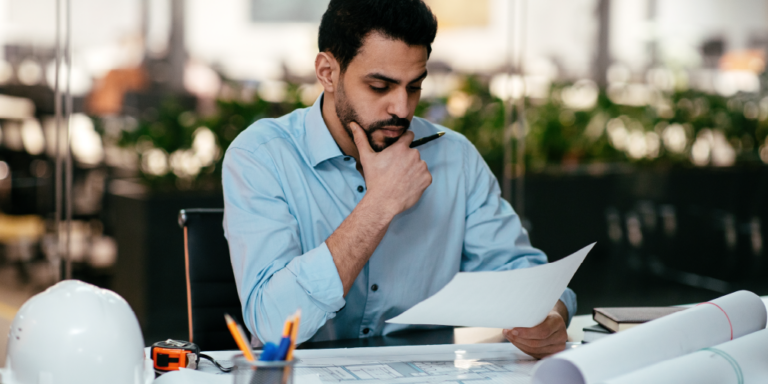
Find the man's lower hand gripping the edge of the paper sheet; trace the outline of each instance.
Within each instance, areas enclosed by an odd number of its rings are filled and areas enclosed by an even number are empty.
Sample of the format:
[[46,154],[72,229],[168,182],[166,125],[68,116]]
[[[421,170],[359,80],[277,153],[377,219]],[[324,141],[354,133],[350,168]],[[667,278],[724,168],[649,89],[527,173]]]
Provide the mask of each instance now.
[[502,334],[521,351],[543,359],[565,349],[565,342],[568,340],[565,328],[567,318],[568,309],[558,300],[541,324],[533,328],[505,329]]

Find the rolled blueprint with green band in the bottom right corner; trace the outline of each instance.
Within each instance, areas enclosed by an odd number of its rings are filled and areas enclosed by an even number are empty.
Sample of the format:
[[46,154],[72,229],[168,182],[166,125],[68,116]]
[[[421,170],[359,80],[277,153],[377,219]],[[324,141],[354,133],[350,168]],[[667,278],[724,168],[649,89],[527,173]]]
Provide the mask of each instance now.
[[606,380],[604,384],[768,382],[768,329]]

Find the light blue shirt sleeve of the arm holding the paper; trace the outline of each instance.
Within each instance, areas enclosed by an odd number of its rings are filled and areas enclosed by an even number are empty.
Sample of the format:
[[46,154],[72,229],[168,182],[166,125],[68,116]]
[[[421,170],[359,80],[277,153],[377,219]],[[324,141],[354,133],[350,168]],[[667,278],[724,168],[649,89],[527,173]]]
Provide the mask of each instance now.
[[[464,174],[469,191],[462,271],[504,271],[547,263],[547,256],[531,246],[528,232],[485,160],[467,142]],[[560,300],[568,308],[566,326],[576,313],[576,294],[566,288]]]

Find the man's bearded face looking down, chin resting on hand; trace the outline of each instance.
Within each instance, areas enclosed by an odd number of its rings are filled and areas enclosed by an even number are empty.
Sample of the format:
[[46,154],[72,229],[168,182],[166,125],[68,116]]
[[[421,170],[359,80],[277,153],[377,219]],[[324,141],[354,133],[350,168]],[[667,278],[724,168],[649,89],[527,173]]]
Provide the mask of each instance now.
[[410,126],[427,76],[427,49],[373,32],[339,76],[336,114],[350,137],[356,122],[375,151],[396,142]]

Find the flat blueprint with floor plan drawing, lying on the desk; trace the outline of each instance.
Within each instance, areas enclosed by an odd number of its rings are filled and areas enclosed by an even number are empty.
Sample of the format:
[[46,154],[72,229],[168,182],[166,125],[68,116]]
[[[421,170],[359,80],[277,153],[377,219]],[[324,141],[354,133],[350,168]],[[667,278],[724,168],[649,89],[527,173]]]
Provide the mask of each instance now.
[[295,377],[323,384],[527,384],[536,363],[509,343],[307,350],[296,357]]

